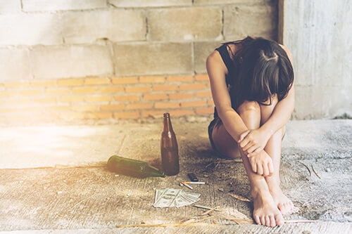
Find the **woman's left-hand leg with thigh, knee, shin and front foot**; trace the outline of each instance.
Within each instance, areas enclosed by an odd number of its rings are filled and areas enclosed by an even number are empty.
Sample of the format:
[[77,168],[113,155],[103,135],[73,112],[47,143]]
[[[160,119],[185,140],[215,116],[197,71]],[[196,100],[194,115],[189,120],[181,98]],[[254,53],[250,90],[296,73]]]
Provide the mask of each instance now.
[[[249,129],[258,129],[260,126],[260,106],[258,103],[245,101],[238,108],[238,112]],[[239,153],[241,154],[244,168],[251,183],[251,195],[254,206],[253,217],[256,223],[265,226],[282,225],[284,219],[279,209],[277,209],[277,204],[272,199],[264,176],[253,172],[248,157],[244,155],[243,151],[239,150],[237,142],[227,133],[225,126],[222,124],[215,126],[212,137],[215,147],[222,155],[238,157]]]

